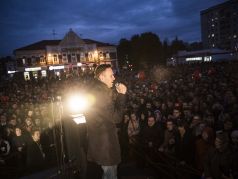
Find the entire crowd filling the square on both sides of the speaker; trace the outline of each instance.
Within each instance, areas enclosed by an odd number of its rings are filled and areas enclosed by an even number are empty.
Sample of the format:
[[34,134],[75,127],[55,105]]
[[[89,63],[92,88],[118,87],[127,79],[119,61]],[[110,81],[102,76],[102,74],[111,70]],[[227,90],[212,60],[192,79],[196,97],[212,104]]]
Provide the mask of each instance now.
[[[170,173],[177,177],[191,178],[191,172],[179,170],[190,166],[197,177],[237,178],[237,66],[237,62],[154,66],[143,75],[128,70],[117,74],[117,81],[128,89],[117,125],[122,163],[163,164],[161,173],[174,170]],[[92,78],[89,73],[1,82],[0,165],[14,166],[18,173],[54,165],[52,99],[84,88]]]

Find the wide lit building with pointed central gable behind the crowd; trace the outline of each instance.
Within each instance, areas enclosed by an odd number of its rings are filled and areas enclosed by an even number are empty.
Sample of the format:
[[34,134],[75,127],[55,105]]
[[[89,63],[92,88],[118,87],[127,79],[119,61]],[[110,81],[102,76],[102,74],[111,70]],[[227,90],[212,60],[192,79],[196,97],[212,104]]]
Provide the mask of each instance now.
[[[17,71],[25,77],[45,76],[47,71],[93,68],[98,64],[111,64],[118,68],[115,45],[91,39],[81,39],[71,29],[62,40],[42,40],[14,50]],[[31,73],[32,72],[32,73]]]

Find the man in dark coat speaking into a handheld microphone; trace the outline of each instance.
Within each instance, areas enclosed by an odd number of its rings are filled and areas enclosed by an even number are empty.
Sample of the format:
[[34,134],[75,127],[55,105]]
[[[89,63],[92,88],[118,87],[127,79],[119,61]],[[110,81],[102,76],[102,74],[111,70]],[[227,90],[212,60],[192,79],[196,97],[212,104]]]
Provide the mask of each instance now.
[[127,88],[119,83],[113,88],[115,77],[110,65],[102,64],[95,69],[95,82],[91,92],[95,102],[86,114],[88,124],[89,161],[103,169],[103,178],[117,178],[117,165],[121,161],[116,123],[122,119]]

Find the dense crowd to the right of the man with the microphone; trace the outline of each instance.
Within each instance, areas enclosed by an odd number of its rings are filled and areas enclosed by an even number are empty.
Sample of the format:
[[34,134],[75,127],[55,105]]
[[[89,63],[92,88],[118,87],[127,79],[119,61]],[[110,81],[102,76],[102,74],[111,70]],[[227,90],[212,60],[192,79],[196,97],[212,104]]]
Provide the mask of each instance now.
[[129,100],[120,131],[124,160],[134,147],[143,149],[142,158],[166,164],[160,169],[167,175],[179,171],[171,169],[175,162],[192,166],[197,177],[237,178],[237,65],[154,67],[145,79],[127,80]]

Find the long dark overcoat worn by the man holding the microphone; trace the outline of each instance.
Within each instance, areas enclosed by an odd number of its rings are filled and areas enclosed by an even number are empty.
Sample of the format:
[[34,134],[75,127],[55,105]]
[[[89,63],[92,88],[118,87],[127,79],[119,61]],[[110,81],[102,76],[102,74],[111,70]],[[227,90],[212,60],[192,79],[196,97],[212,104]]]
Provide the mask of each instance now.
[[86,114],[89,161],[99,165],[117,165],[121,161],[116,123],[122,119],[125,95],[96,80],[91,87],[94,104]]

